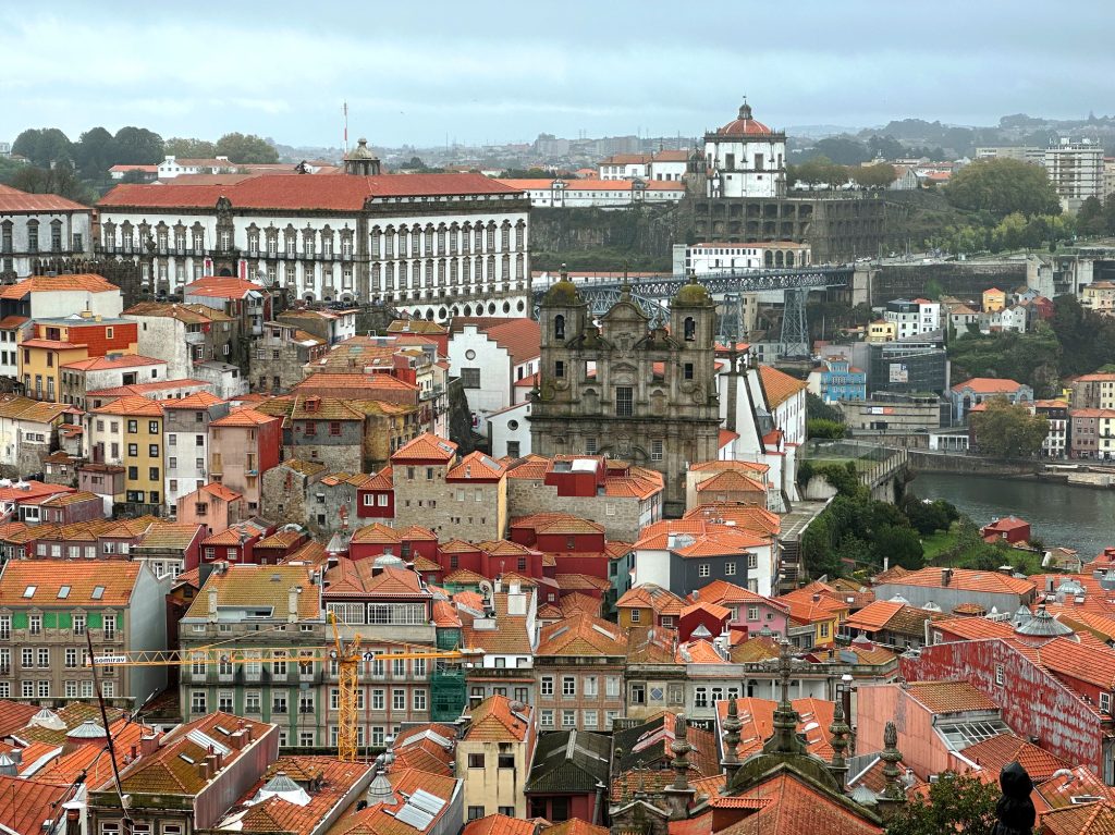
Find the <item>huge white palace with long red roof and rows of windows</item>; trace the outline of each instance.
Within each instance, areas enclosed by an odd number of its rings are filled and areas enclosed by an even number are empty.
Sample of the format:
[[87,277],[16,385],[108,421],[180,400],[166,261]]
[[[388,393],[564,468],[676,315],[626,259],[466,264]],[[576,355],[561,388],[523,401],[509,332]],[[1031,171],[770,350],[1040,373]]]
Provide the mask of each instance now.
[[100,254],[146,289],[239,275],[291,298],[385,301],[426,318],[527,314],[530,201],[481,174],[381,174],[363,139],[345,174],[119,185],[100,201]]

